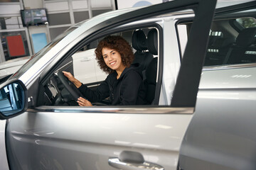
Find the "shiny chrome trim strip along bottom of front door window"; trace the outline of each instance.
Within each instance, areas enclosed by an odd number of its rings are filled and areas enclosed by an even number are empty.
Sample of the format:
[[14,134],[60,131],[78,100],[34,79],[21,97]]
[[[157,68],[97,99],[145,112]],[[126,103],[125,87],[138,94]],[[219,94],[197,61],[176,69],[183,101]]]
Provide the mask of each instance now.
[[39,106],[29,108],[29,113],[51,112],[51,113],[126,113],[126,114],[193,114],[194,108],[171,108],[166,106]]

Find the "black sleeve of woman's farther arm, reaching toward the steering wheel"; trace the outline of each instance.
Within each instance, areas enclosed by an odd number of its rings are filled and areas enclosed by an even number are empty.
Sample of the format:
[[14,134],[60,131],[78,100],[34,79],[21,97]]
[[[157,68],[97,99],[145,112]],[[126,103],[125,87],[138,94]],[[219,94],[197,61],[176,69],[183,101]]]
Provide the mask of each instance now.
[[103,99],[110,96],[109,86],[107,81],[103,81],[100,86],[97,87],[96,90],[91,90],[87,88],[84,84],[78,88],[78,90],[82,93],[85,98],[90,102],[100,102]]

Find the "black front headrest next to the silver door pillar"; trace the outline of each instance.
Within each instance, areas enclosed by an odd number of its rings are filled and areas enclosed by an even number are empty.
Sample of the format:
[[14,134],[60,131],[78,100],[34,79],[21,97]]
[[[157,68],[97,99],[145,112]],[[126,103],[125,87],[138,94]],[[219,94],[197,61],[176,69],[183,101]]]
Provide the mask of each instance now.
[[149,30],[146,40],[146,46],[152,55],[158,55],[158,35],[155,28]]

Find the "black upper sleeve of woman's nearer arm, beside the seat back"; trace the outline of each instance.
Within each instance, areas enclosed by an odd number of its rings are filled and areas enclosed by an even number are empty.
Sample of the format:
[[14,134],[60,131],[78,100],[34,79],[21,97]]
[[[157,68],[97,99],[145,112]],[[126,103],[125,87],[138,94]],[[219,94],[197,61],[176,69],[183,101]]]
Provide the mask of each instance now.
[[126,74],[120,90],[120,105],[136,105],[142,77],[135,71]]

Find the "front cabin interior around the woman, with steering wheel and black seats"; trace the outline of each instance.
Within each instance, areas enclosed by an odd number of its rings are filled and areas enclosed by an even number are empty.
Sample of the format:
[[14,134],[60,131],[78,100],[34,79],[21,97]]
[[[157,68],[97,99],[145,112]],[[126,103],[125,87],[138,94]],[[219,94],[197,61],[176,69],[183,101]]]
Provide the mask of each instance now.
[[[158,32],[156,28],[140,28],[114,33],[112,35],[121,35],[132,45],[132,49],[134,50],[133,63],[139,63],[139,68],[142,70],[143,81],[147,89],[146,101],[148,103],[154,103],[158,67]],[[97,43],[101,39],[98,38],[90,42],[90,44],[85,45],[78,52],[86,52],[88,50],[93,50],[94,52]],[[38,97],[37,106],[78,106],[76,101],[82,94],[73,83],[68,81],[62,72],[66,71],[74,75],[74,65],[74,58],[70,56],[59,64],[58,68],[50,74],[48,79],[41,81],[38,96],[43,97]],[[85,67],[87,66],[85,65]],[[81,69],[80,72],[83,72],[83,70]],[[83,81],[82,83],[90,89],[96,89],[102,81],[104,79],[95,82]],[[105,98],[105,100],[92,103],[92,105],[107,106],[110,105],[110,101],[108,98]]]

